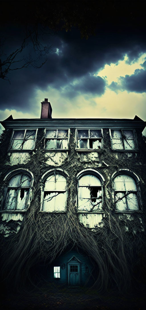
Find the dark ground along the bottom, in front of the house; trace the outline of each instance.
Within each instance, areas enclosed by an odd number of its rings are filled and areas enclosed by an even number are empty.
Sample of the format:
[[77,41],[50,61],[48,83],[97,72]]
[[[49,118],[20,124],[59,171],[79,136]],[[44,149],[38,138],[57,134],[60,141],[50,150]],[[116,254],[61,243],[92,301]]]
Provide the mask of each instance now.
[[45,286],[21,293],[7,293],[1,298],[1,309],[84,309],[84,310],[112,310],[112,309],[145,309],[144,291],[131,294],[98,295],[95,289],[69,289],[65,286],[46,284]]

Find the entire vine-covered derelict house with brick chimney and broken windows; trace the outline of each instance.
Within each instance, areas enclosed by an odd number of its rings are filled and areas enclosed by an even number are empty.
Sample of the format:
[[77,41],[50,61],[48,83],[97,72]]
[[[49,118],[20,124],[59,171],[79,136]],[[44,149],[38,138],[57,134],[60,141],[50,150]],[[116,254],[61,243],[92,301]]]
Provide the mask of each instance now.
[[53,119],[41,104],[40,119],[1,122],[4,275],[127,287],[143,273],[146,123]]

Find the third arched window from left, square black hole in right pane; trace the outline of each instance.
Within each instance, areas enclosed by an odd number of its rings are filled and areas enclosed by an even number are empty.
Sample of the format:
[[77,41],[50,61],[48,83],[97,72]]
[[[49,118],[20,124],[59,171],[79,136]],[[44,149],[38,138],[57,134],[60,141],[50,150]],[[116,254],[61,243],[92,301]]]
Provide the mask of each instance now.
[[102,210],[102,185],[98,177],[83,175],[78,181],[78,212]]

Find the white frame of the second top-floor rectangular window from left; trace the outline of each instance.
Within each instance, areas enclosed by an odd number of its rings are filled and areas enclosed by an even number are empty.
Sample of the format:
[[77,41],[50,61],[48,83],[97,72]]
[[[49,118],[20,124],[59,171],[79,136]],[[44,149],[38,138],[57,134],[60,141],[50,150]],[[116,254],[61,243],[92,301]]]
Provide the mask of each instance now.
[[[50,140],[67,140],[67,148],[46,148],[46,130],[56,130],[56,138],[51,138]],[[58,130],[68,130],[68,137],[67,138],[57,138],[58,135]],[[45,139],[44,139],[44,151],[46,152],[55,152],[55,151],[59,151],[59,152],[68,152],[69,150],[69,137],[70,137],[70,128],[45,128]]]

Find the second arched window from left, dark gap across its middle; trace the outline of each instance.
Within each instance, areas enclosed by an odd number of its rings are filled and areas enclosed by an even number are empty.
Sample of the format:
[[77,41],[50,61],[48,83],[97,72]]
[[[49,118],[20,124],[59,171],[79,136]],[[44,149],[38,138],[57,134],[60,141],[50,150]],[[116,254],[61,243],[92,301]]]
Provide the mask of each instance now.
[[66,179],[61,174],[51,174],[47,177],[44,187],[42,211],[65,211]]

